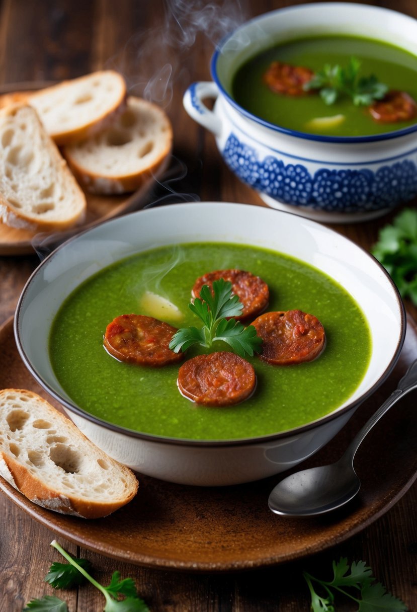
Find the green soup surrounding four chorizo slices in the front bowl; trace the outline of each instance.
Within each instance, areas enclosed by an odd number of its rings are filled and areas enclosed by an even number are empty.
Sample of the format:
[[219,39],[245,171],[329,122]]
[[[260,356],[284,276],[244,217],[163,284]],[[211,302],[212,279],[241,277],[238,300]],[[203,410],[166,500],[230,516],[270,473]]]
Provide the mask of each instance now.
[[[235,406],[207,408],[180,395],[178,365],[140,367],[106,353],[103,334],[116,316],[155,316],[152,300],[145,299],[149,292],[179,308],[168,308],[166,316],[158,312],[157,318],[175,327],[197,326],[188,308],[194,281],[227,268],[248,270],[268,283],[268,310],[300,309],[317,316],[327,335],[322,354],[287,367],[249,358],[257,376],[254,394]],[[190,349],[188,356],[203,351]],[[327,275],[270,250],[223,243],[158,248],[103,269],[65,300],[50,337],[57,378],[90,414],[144,433],[211,440],[268,435],[328,414],[356,389],[370,351],[363,313]]]

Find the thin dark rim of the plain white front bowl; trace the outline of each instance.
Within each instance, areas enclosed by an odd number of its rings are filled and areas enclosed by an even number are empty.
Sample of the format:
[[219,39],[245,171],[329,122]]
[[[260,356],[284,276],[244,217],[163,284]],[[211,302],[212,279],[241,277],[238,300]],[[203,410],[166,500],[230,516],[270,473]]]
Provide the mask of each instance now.
[[[199,201],[199,202],[188,202],[188,203],[175,203],[175,204],[169,204],[169,207],[174,207],[174,208],[177,208],[177,209],[183,209],[183,208],[185,208],[187,206],[193,206],[193,205],[194,206],[201,206],[201,205],[206,205],[207,206],[207,205],[212,205],[212,204],[221,204],[221,206],[224,206],[226,204],[227,206],[238,207],[239,211],[242,211],[242,206],[243,207],[251,207],[253,209],[259,209],[259,206],[256,206],[255,204],[242,204],[242,203],[229,203],[229,202],[225,203],[225,202],[221,202],[221,201],[204,201],[204,202]],[[164,206],[158,206],[157,208],[163,209]],[[261,207],[261,209],[262,209],[262,207]],[[270,209],[264,209],[264,210],[265,211],[269,211]],[[287,211],[271,211],[271,212],[273,212],[273,214],[290,215],[292,217],[299,218],[297,214],[292,213],[292,212],[287,212]],[[116,217],[116,218],[108,219],[108,220],[103,221],[102,223],[98,224],[97,226],[94,226],[93,228],[87,228],[86,230],[81,231],[80,233],[76,234],[75,236],[70,237],[65,242],[63,242],[62,244],[57,246],[53,250],[53,252],[50,253],[50,255],[46,256],[45,259],[43,259],[40,262],[39,266],[37,266],[35,268],[35,270],[32,272],[32,274],[28,278],[26,284],[24,285],[24,287],[23,287],[23,289],[21,291],[21,294],[20,294],[18,302],[17,302],[17,306],[16,306],[16,310],[15,310],[15,315],[13,317],[13,333],[14,333],[14,336],[15,336],[15,342],[16,342],[16,346],[17,346],[17,349],[18,349],[18,353],[20,354],[20,357],[23,360],[24,365],[26,365],[26,368],[28,368],[29,372],[34,377],[34,379],[40,384],[42,389],[45,389],[46,392],[48,392],[48,394],[50,394],[51,397],[53,397],[55,400],[57,400],[59,402],[59,404],[64,406],[64,408],[66,410],[70,411],[71,413],[75,414],[78,417],[83,417],[83,419],[89,420],[94,425],[98,425],[100,427],[104,427],[105,429],[114,431],[115,433],[118,433],[118,434],[122,434],[122,435],[125,435],[125,436],[130,436],[131,438],[141,439],[142,441],[147,441],[147,442],[157,442],[157,443],[160,443],[160,444],[174,444],[175,446],[210,447],[210,448],[215,448],[215,447],[253,446],[253,445],[259,444],[260,442],[268,443],[268,442],[273,442],[273,441],[277,441],[277,440],[280,440],[280,439],[286,439],[286,438],[290,438],[290,437],[293,437],[293,436],[298,436],[298,435],[304,433],[305,431],[313,430],[314,428],[316,428],[318,426],[321,426],[323,424],[327,424],[328,422],[331,422],[332,420],[338,418],[342,414],[347,414],[353,408],[357,408],[358,406],[360,406],[360,404],[363,403],[363,401],[365,401],[368,397],[370,397],[375,392],[375,390],[377,390],[378,387],[380,387],[380,385],[388,378],[388,376],[393,371],[393,369],[394,369],[394,367],[395,367],[395,365],[397,363],[397,360],[399,359],[402,346],[404,345],[405,331],[406,331],[406,327],[407,327],[407,318],[406,318],[404,303],[402,302],[399,290],[397,289],[397,286],[395,285],[393,279],[389,276],[388,272],[382,266],[382,264],[371,253],[369,253],[365,248],[363,248],[360,245],[356,244],[356,242],[354,242],[350,238],[348,238],[346,236],[342,236],[341,234],[339,234],[335,230],[333,230],[331,228],[328,228],[327,226],[323,226],[319,222],[316,222],[316,221],[308,219],[308,218],[301,218],[301,221],[303,223],[306,223],[307,225],[320,226],[321,228],[324,227],[325,230],[328,231],[329,233],[336,234],[336,236],[338,236],[339,239],[342,238],[343,240],[352,243],[353,245],[355,245],[356,248],[360,249],[366,256],[371,258],[374,261],[374,264],[376,264],[381,269],[383,275],[386,277],[386,279],[389,282],[389,285],[391,285],[391,288],[393,289],[394,296],[396,297],[397,305],[398,305],[398,308],[399,308],[399,319],[400,319],[399,320],[400,335],[399,335],[399,339],[397,341],[396,350],[394,351],[394,354],[391,357],[391,361],[389,362],[388,367],[385,369],[385,371],[383,371],[382,375],[377,379],[377,381],[375,381],[375,383],[372,385],[372,387],[370,387],[366,392],[364,392],[364,394],[362,394],[360,397],[356,398],[356,400],[350,401],[343,408],[336,408],[332,412],[330,412],[329,414],[325,414],[324,416],[320,417],[319,419],[312,420],[312,421],[310,421],[310,422],[308,422],[306,424],[303,424],[303,425],[298,425],[298,427],[294,427],[294,428],[289,429],[289,430],[278,431],[276,433],[267,434],[267,435],[264,435],[264,436],[254,436],[254,437],[251,437],[251,438],[236,438],[236,439],[232,438],[232,439],[221,439],[221,440],[211,440],[211,439],[207,439],[207,440],[203,439],[203,440],[201,440],[201,439],[192,439],[192,438],[171,438],[169,436],[161,436],[161,435],[155,435],[155,434],[151,434],[151,433],[143,433],[141,431],[132,430],[130,428],[122,427],[122,425],[116,425],[116,424],[110,423],[110,422],[108,422],[108,421],[106,421],[104,419],[101,419],[100,417],[95,416],[94,414],[90,414],[89,412],[87,412],[83,408],[80,408],[79,406],[75,405],[75,403],[72,403],[71,401],[67,401],[65,398],[61,397],[59,392],[54,390],[53,387],[50,386],[50,384],[46,383],[43,380],[42,375],[40,375],[40,373],[38,373],[38,371],[35,369],[35,367],[31,364],[28,356],[26,355],[26,352],[25,352],[24,346],[23,346],[23,342],[21,341],[21,337],[20,337],[20,314],[21,314],[21,308],[22,308],[22,305],[23,305],[24,297],[25,297],[25,295],[26,295],[26,293],[28,291],[29,286],[33,282],[34,278],[43,269],[43,266],[45,266],[48,262],[52,261],[54,259],[54,257],[56,257],[57,253],[61,252],[62,249],[67,248],[68,244],[71,244],[73,242],[78,241],[79,239],[81,239],[86,234],[92,234],[92,233],[95,233],[96,231],[100,231],[101,228],[103,228],[103,226],[105,226],[105,225],[116,225],[117,223],[128,223],[129,220],[131,219],[131,217],[136,217],[139,214],[140,215],[144,215],[144,214],[147,215],[149,213],[150,214],[155,214],[155,209],[154,208],[150,208],[150,209],[147,209],[147,210],[131,212],[131,213],[127,214],[127,215],[123,215],[122,217]]]

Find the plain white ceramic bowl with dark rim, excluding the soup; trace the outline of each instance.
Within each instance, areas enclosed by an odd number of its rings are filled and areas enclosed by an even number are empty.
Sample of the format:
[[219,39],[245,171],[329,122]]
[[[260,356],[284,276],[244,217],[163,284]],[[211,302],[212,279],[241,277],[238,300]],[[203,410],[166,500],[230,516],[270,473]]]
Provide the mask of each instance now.
[[[233,441],[142,434],[108,424],[75,405],[62,389],[48,357],[51,324],[63,300],[79,283],[114,261],[161,245],[196,241],[237,242],[287,253],[330,275],[352,294],[371,328],[372,355],[363,381],[349,400],[302,427]],[[88,438],[136,471],[191,485],[249,482],[278,474],[312,455],[388,376],[404,335],[399,293],[371,255],[311,220],[229,203],[171,204],[126,215],[79,234],[40,264],[23,289],[15,316],[15,338],[24,363]]]

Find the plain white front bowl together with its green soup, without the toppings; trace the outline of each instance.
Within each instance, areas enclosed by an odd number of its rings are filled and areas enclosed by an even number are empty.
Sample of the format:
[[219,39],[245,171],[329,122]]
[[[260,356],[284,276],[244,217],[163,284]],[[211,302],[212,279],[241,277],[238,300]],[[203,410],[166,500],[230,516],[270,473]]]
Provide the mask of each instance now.
[[[284,364],[258,346],[242,359],[256,378],[250,394],[207,405],[180,392],[180,370],[201,356],[240,357],[233,343],[200,343],[192,291],[197,279],[231,270],[268,293],[262,313],[224,327],[245,338],[271,313],[308,313],[325,345],[314,359]],[[199,341],[180,362],[118,359],[106,349],[108,329],[133,315]],[[369,253],[312,220],[231,203],[172,204],[79,234],[40,264],[15,316],[24,363],[88,438],[138,472],[190,485],[249,482],[312,455],[389,375],[404,334],[399,293]],[[232,383],[239,372],[229,371]],[[221,384],[215,375],[208,388]]]

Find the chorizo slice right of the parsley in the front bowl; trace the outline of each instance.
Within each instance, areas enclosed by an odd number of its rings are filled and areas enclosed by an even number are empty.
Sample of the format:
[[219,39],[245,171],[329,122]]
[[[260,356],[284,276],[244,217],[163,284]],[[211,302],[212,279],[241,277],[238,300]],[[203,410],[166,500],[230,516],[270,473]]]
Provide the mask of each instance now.
[[319,319],[302,310],[267,312],[253,322],[264,344],[260,358],[274,365],[301,364],[315,359],[325,345]]

